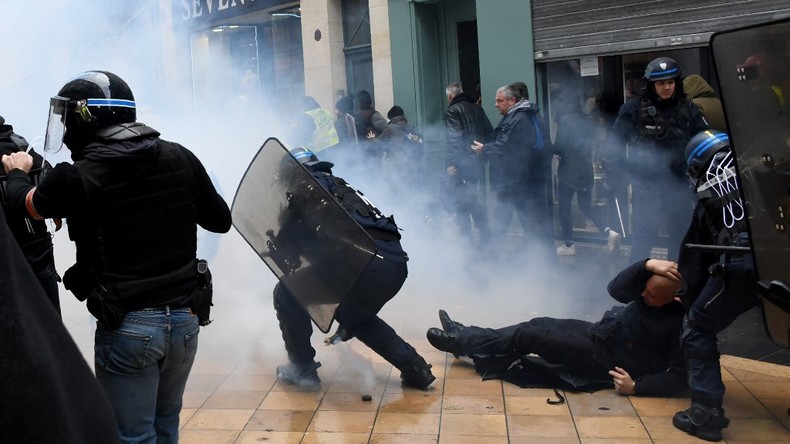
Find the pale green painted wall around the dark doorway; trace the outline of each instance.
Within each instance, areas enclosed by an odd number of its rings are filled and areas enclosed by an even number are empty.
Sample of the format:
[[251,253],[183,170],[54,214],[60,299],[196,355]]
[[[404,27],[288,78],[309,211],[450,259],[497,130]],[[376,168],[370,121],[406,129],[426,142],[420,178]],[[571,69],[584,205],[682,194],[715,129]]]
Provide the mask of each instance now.
[[[471,4],[470,4],[471,3]],[[483,105],[491,122],[500,116],[494,95],[502,85],[523,81],[536,98],[532,14],[529,0],[389,0],[395,104],[425,137],[430,182],[444,171],[444,88],[458,80],[455,20],[476,9]],[[454,28],[453,28],[454,29]],[[381,111],[381,110],[380,110]]]

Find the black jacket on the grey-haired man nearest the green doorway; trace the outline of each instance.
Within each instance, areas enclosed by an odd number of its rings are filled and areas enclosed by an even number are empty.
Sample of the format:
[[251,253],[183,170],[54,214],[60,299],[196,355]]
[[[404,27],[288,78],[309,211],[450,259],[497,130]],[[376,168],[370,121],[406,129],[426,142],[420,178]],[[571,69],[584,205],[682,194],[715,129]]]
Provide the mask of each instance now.
[[461,93],[453,97],[444,113],[444,127],[447,137],[446,166],[455,166],[461,170],[482,169],[483,159],[472,150],[472,142],[488,142],[494,128],[472,96]]

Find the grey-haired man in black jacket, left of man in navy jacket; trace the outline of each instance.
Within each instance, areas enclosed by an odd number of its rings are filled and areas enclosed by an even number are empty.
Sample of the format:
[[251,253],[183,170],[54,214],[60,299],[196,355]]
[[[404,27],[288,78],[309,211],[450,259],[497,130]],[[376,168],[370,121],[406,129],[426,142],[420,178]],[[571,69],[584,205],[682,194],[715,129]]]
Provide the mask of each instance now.
[[453,203],[450,212],[457,215],[458,226],[469,239],[473,238],[471,222],[474,222],[482,246],[491,234],[485,206],[485,164],[483,157],[472,149],[472,142],[488,141],[494,128],[483,108],[475,103],[474,97],[464,93],[460,83],[450,83],[445,92],[449,104],[444,113],[447,136],[444,189],[449,194],[446,201]]

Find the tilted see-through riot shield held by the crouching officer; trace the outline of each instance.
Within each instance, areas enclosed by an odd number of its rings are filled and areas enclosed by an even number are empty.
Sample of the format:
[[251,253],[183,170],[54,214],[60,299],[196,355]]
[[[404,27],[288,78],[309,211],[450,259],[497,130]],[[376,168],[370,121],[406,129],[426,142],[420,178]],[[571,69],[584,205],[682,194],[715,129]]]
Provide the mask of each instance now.
[[329,332],[375,255],[373,240],[277,139],[264,142],[236,190],[233,226]]

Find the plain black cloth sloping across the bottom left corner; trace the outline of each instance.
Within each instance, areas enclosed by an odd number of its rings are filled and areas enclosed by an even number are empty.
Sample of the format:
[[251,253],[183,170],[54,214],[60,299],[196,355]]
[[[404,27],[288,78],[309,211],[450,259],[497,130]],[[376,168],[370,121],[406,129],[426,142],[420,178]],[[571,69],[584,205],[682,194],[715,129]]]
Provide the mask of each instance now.
[[[92,367],[3,224],[0,245],[3,441],[120,442],[112,405]],[[41,423],[42,418],[46,424]]]

